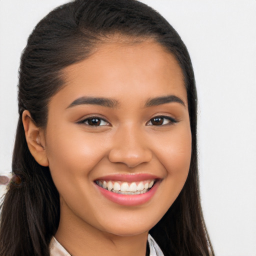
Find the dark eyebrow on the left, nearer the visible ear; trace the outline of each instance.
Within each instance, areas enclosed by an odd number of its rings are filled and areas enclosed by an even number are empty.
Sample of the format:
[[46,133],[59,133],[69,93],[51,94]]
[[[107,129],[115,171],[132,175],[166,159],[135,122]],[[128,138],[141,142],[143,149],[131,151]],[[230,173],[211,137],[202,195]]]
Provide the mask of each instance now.
[[83,104],[92,104],[92,105],[100,105],[106,107],[117,107],[119,102],[113,98],[105,98],[105,97],[79,97],[75,99],[71,104],[68,105],[67,108],[83,105]]

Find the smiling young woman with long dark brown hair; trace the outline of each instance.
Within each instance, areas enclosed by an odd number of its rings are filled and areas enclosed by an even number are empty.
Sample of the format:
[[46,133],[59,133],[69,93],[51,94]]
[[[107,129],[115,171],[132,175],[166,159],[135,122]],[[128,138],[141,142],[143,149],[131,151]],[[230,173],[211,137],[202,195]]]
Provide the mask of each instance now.
[[[75,0],[20,63],[0,255],[212,255],[185,45],[135,0]],[[148,234],[149,233],[149,234]]]

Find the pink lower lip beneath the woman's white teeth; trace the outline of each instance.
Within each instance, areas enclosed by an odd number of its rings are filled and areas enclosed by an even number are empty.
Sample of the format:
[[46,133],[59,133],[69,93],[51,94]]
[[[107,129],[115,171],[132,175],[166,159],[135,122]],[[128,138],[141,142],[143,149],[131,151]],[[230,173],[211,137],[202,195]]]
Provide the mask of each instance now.
[[143,203],[149,201],[153,197],[153,195],[159,185],[159,182],[156,182],[149,191],[147,191],[143,194],[134,194],[134,195],[118,194],[115,192],[111,192],[105,188],[102,188],[101,186],[98,186],[97,184],[95,184],[95,185],[99,189],[101,194],[103,194],[107,199],[109,199],[115,203],[118,203],[120,205],[135,206],[135,205],[140,205],[140,204],[143,204]]

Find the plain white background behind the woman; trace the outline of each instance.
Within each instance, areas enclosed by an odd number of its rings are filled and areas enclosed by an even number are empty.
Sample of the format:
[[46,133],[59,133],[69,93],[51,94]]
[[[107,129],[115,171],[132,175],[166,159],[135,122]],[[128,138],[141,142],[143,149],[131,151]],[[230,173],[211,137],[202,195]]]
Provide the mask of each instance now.
[[[0,172],[9,172],[19,57],[65,0],[0,0]],[[178,31],[199,98],[200,188],[216,255],[256,255],[256,0],[143,0]]]

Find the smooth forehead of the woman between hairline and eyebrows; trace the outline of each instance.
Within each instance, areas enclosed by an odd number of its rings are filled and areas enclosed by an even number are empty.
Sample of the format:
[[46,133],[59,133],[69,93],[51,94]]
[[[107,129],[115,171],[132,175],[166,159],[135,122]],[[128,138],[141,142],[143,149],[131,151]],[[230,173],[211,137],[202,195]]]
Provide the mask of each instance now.
[[155,42],[101,44],[88,58],[67,66],[62,73],[65,82],[57,94],[73,99],[96,94],[146,100],[152,94],[174,94],[187,102],[178,62]]

